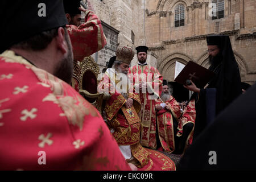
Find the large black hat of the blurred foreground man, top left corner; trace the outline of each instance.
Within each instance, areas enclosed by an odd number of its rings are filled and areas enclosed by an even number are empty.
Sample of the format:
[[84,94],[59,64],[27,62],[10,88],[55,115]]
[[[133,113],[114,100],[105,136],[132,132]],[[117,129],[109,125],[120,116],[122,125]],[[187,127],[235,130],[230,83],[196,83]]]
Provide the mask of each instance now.
[[1,0],[0,17],[0,53],[40,32],[68,24],[62,0]]

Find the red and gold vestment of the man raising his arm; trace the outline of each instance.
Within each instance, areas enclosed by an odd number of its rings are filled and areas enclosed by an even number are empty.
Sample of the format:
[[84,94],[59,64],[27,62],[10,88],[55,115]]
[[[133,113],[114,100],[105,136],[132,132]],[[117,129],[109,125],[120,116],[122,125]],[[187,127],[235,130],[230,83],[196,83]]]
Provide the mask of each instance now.
[[90,10],[85,12],[85,23],[82,23],[79,27],[68,24],[67,30],[71,39],[74,56],[72,87],[79,92],[80,61],[84,57],[100,51],[106,45],[106,38],[101,20]]

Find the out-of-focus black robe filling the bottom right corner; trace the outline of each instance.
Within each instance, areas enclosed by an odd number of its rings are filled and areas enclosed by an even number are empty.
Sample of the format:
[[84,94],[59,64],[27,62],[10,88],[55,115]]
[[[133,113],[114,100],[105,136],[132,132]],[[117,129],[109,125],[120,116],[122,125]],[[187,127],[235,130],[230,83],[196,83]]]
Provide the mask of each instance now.
[[177,170],[255,170],[256,84],[203,131]]

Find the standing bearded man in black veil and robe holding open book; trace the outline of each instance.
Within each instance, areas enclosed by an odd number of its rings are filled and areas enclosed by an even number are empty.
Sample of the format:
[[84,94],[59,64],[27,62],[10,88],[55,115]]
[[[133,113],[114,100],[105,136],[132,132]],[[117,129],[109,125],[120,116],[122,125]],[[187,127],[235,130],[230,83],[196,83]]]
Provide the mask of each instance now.
[[207,37],[210,68],[214,73],[208,84],[201,88],[193,81],[185,88],[195,92],[196,98],[196,123],[194,138],[213,121],[214,117],[228,106],[241,94],[240,71],[229,36],[213,35]]

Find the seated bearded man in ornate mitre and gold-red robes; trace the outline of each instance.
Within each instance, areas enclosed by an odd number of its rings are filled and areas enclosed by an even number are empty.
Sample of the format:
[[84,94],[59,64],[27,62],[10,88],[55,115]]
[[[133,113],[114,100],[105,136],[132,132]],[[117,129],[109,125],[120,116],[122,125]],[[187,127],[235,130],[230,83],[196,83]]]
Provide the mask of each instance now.
[[119,46],[113,67],[107,69],[98,85],[98,92],[109,93],[104,105],[109,129],[127,162],[139,170],[175,170],[171,159],[158,151],[142,147],[140,143],[141,118],[138,113],[141,111],[141,100],[134,93],[127,76],[133,57],[132,48]]

